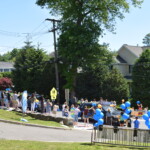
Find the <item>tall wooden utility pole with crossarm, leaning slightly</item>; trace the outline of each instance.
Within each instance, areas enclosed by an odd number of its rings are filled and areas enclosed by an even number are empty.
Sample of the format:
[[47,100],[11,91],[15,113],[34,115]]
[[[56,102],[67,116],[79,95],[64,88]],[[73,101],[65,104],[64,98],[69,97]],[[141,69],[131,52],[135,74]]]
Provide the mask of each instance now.
[[59,93],[59,74],[58,74],[58,52],[56,49],[56,33],[55,31],[57,30],[56,28],[56,23],[60,22],[60,20],[55,20],[55,19],[46,19],[47,21],[53,22],[53,29],[50,32],[53,32],[53,37],[54,37],[54,52],[55,52],[55,76],[56,76],[56,90],[57,90],[57,102],[60,103],[60,93]]

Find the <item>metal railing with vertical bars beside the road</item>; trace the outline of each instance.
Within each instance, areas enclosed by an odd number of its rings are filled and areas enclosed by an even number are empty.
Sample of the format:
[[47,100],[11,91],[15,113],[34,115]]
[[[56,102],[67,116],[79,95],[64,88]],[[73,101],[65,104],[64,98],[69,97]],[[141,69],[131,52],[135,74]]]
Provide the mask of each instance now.
[[150,147],[150,130],[99,126],[92,130],[91,143]]

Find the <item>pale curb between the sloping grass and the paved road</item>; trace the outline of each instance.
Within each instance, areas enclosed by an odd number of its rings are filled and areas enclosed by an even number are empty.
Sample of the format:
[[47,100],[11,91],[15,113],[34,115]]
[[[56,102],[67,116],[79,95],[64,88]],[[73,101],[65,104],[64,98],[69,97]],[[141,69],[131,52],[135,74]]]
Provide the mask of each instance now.
[[61,127],[43,126],[43,125],[38,125],[38,124],[30,124],[30,123],[23,123],[23,122],[3,120],[3,119],[0,119],[0,122],[18,124],[18,125],[24,125],[24,126],[31,126],[31,127],[50,128],[50,129],[58,129],[58,130],[72,130],[71,128],[67,129],[67,128],[61,128]]

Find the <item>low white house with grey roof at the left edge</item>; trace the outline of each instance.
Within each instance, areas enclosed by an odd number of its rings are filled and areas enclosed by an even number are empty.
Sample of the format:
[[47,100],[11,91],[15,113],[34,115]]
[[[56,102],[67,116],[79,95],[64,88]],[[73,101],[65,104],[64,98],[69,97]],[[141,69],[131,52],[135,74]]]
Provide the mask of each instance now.
[[0,61],[0,72],[11,72],[14,69],[14,63]]

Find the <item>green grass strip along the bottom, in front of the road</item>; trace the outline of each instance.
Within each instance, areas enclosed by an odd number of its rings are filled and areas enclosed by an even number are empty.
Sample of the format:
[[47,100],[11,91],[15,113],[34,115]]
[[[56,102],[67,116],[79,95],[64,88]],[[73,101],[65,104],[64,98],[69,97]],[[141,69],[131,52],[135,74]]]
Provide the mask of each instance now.
[[0,150],[148,150],[150,148],[90,143],[51,143],[35,141],[0,140]]

